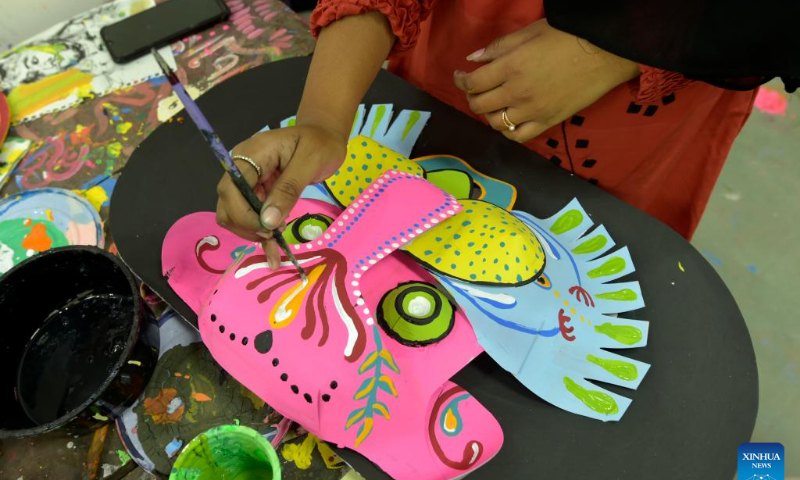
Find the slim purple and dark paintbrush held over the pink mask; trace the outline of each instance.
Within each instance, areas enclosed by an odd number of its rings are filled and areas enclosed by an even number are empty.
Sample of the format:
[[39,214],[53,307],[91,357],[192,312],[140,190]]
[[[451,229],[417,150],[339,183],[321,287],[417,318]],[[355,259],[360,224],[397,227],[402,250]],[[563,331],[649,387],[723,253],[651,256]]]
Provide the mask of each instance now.
[[[231,176],[234,185],[236,185],[236,188],[238,188],[242,195],[244,195],[244,198],[247,200],[247,203],[250,204],[250,207],[255,210],[260,221],[261,207],[263,206],[263,203],[256,196],[256,193],[253,191],[253,189],[250,188],[250,185],[247,184],[242,172],[240,172],[236,164],[233,163],[233,158],[231,158],[231,154],[228,153],[228,149],[222,144],[222,140],[211,127],[211,124],[208,123],[205,115],[203,115],[203,112],[200,111],[200,107],[198,107],[194,100],[192,100],[192,97],[186,93],[186,89],[183,88],[183,84],[181,84],[180,80],[178,80],[175,72],[172,71],[172,68],[167,65],[167,62],[164,61],[164,58],[159,55],[155,48],[152,49],[152,53],[156,59],[156,62],[158,62],[158,66],[161,67],[161,71],[164,72],[164,75],[169,80],[169,83],[172,86],[172,91],[175,92],[175,95],[178,96],[178,99],[180,99],[181,103],[186,109],[186,113],[189,114],[198,130],[200,130],[200,133],[203,134],[203,138],[205,138],[208,146],[211,147],[211,150],[214,152],[217,160],[219,160],[219,162],[222,164],[222,168],[224,168],[225,171],[228,172],[228,175]],[[278,242],[278,246],[281,247],[281,250],[283,250],[283,252],[289,258],[289,261],[291,261],[292,264],[297,268],[297,271],[300,272],[300,278],[305,281],[306,272],[303,271],[303,267],[300,266],[297,258],[295,258],[294,254],[291,252],[291,250],[289,250],[289,245],[286,243],[286,239],[283,238],[283,234],[281,234],[279,230],[273,230],[272,238]]]

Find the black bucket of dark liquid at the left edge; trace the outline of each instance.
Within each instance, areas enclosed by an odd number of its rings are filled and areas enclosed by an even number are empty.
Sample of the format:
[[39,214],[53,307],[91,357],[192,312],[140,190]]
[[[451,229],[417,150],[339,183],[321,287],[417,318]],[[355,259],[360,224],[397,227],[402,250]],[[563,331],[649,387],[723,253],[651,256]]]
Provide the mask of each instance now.
[[158,328],[133,275],[94,247],[32,257],[0,278],[0,439],[103,425],[144,391]]

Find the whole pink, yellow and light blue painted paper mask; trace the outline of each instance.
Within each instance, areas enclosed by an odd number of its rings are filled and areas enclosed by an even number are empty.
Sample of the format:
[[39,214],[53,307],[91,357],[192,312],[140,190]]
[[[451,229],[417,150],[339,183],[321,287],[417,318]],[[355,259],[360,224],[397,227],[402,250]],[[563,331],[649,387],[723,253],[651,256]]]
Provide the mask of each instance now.
[[165,275],[215,359],[401,479],[455,478],[499,449],[496,420],[449,382],[481,347],[544,400],[619,420],[630,400],[590,380],[635,389],[649,368],[605,350],[647,342],[647,322],[617,316],[644,306],[638,283],[613,283],[634,271],[627,249],[577,200],[537,219],[459,158],[407,158],[427,114],[359,112],[341,168],[285,231],[307,283],[288,262],[270,272],[212,213],[167,235]]

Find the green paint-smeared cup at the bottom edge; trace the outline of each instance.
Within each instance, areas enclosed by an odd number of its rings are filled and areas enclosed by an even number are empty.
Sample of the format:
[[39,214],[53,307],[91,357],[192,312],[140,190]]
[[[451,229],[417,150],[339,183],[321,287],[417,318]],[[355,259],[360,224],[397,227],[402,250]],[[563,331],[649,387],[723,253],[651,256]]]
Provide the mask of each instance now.
[[195,437],[183,449],[169,480],[280,480],[272,445],[252,428],[223,425]]

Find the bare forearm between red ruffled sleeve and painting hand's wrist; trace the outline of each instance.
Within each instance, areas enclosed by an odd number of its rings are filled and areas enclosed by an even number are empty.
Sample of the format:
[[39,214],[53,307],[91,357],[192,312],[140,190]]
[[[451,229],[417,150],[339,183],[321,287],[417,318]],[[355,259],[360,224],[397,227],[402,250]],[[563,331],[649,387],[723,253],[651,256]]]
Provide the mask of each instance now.
[[297,113],[298,125],[317,125],[347,138],[356,110],[394,44],[386,17],[369,12],[325,27]]

